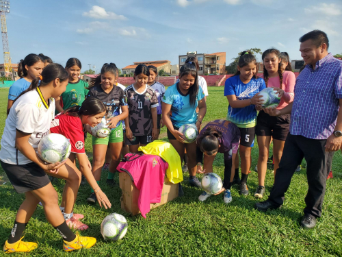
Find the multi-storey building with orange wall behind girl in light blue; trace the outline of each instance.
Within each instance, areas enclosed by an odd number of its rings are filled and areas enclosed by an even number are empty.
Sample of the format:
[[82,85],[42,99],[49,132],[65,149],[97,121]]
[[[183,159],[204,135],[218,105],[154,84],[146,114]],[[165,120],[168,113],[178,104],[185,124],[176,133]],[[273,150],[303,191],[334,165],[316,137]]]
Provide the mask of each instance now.
[[189,56],[195,56],[198,60],[200,75],[205,74],[226,74],[226,52],[218,53],[197,53],[197,51],[187,52],[186,55],[179,56],[179,69],[184,65]]

